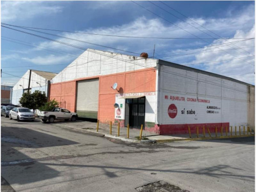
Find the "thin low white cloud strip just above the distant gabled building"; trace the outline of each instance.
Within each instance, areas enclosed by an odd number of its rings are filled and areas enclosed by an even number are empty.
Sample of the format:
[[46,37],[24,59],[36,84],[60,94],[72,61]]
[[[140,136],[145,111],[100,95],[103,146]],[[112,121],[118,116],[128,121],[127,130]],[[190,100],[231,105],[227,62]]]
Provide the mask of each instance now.
[[70,55],[65,55],[65,56],[55,56],[55,55],[48,55],[48,56],[37,56],[34,58],[28,58],[28,57],[23,57],[23,60],[32,62],[36,65],[50,65],[50,64],[68,64],[70,62]]

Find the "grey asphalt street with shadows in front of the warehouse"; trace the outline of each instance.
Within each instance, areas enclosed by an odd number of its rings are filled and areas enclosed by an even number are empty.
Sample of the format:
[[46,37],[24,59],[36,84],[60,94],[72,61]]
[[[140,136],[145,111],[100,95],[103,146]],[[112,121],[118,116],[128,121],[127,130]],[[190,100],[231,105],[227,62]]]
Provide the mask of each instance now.
[[15,191],[139,191],[158,181],[190,192],[254,191],[254,137],[128,143],[61,122],[1,120],[2,177]]

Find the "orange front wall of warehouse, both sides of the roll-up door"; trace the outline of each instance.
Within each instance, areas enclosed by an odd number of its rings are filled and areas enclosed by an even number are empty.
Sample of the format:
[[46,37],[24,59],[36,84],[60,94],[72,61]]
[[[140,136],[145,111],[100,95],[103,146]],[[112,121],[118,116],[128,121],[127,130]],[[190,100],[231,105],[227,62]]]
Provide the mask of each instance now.
[[115,94],[118,92],[111,87],[117,82],[119,93],[140,93],[156,91],[156,70],[144,69],[133,72],[79,78],[73,81],[51,84],[50,99],[60,102],[61,107],[75,112],[76,81],[99,78],[99,107],[98,119],[100,122],[115,120]]

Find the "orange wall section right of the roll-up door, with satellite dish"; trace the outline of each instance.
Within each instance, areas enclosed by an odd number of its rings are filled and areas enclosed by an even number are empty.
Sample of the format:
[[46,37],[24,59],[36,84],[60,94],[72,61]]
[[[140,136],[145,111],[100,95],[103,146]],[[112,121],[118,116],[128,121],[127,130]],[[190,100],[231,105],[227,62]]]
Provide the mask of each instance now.
[[123,74],[100,77],[99,113],[100,122],[115,121],[115,94],[111,87],[117,82],[119,93],[140,93],[156,91],[156,70],[146,69]]

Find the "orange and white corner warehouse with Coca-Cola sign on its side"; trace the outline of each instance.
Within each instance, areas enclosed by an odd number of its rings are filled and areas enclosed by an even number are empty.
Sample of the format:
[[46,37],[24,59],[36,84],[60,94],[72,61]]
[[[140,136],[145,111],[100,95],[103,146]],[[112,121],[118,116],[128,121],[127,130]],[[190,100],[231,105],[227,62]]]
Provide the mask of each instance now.
[[254,89],[172,62],[88,49],[51,80],[50,98],[78,117],[164,135],[254,127]]

